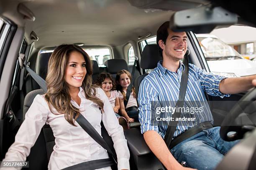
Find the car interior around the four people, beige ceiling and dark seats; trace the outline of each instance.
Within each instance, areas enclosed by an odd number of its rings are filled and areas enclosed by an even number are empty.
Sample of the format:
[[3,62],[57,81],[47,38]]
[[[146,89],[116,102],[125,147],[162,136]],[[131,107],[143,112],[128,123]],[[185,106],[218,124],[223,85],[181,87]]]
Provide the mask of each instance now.
[[[235,24],[255,27],[255,10],[245,5],[245,2],[247,1],[0,0],[0,160],[3,160],[14,142],[15,134],[33,99],[38,94],[44,94],[44,90],[23,64],[45,80],[49,58],[58,45],[76,44],[86,52],[88,49],[104,48],[109,53],[90,56],[93,62],[93,81],[101,72],[109,72],[114,78],[119,70],[132,72],[135,62],[132,79],[138,94],[143,78],[161,60],[157,45],[144,40],[155,37],[156,30],[162,23],[170,21],[170,28],[173,30],[186,31],[190,50],[189,63],[210,72],[195,33],[209,33],[216,27]],[[241,7],[248,9],[247,13],[241,12]],[[142,42],[146,42],[145,45]],[[90,55],[90,50],[88,54]],[[216,170],[255,169],[256,121],[250,125],[233,125],[230,122],[241,115],[236,107],[245,109],[248,106],[241,104],[243,101],[256,100],[256,90],[224,98],[206,93],[205,96],[207,101],[216,101],[209,102],[209,105],[214,126],[223,125],[221,137],[229,141],[243,139],[225,155]],[[228,101],[233,105],[226,105]],[[256,120],[255,102],[247,110],[246,114],[251,120]],[[140,123],[130,123],[130,127],[124,134],[131,155],[131,170],[164,169],[146,145]],[[230,135],[230,132],[235,133]],[[23,169],[47,169],[54,140],[51,127],[44,125],[27,157],[29,168]]]

